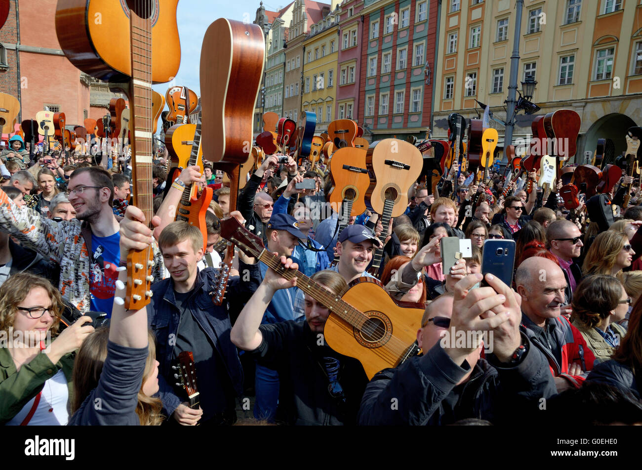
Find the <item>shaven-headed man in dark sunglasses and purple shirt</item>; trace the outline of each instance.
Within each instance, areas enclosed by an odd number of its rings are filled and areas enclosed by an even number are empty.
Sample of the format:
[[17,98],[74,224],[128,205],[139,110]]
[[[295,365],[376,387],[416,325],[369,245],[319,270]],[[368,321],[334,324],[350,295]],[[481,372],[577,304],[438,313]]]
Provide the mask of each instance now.
[[[539,209],[537,209],[539,211]],[[582,252],[582,232],[570,220],[557,220],[546,229],[546,245],[552,254],[557,257],[560,268],[564,271],[568,283],[568,299],[573,299],[573,291],[582,280],[582,268],[573,263],[573,258]]]

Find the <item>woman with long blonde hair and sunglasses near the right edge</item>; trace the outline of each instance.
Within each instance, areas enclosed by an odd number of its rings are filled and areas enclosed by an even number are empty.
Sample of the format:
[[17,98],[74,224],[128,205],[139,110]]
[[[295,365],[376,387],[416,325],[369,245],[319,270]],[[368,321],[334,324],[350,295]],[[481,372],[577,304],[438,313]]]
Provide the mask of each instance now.
[[629,237],[625,233],[607,230],[596,236],[591,243],[591,248],[584,258],[582,272],[586,275],[614,276],[631,265],[634,254]]

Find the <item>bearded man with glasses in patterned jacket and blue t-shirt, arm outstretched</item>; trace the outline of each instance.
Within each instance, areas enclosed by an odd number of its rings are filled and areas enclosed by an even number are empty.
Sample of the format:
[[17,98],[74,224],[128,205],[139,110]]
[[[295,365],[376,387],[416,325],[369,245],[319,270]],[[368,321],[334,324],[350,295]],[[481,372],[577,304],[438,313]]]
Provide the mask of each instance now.
[[[112,211],[114,183],[107,171],[93,166],[75,170],[67,187],[76,218],[57,223],[19,207],[0,190],[0,231],[60,265],[58,288],[78,310],[111,315],[121,263],[119,221]],[[153,247],[152,276],[160,280],[162,257],[156,243]]]

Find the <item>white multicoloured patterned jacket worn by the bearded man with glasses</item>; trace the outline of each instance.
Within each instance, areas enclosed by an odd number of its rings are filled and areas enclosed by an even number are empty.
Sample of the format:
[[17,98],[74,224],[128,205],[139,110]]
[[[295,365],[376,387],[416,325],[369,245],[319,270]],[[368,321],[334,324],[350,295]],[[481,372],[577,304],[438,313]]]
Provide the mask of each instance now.
[[[58,288],[63,297],[82,313],[91,309],[89,292],[89,248],[91,227],[89,222],[73,219],[54,222],[26,206],[17,206],[0,189],[0,231],[19,240],[22,245],[41,254],[45,259],[60,265]],[[153,243],[154,261],[152,275],[162,279],[162,256],[157,243]]]

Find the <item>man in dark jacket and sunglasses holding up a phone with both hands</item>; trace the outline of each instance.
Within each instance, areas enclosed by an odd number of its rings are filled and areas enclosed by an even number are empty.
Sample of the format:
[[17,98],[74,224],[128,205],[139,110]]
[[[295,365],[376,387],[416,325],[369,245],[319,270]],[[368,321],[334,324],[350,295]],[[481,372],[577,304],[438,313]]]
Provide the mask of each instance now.
[[[492,275],[486,276],[490,287],[472,289],[481,280],[481,274],[467,275],[454,296],[428,305],[417,332],[423,356],[372,378],[359,424],[505,422],[523,419],[539,399],[555,395],[546,359],[519,332],[516,294]],[[487,360],[480,359],[482,332],[488,332]]]

